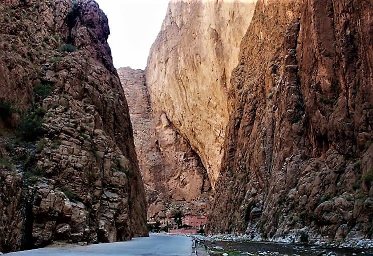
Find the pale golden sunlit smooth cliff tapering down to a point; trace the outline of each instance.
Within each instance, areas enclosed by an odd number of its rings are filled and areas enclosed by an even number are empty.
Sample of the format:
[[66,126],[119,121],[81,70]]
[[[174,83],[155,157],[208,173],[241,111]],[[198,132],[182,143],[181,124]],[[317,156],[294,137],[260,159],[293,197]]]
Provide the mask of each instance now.
[[224,153],[230,74],[256,2],[171,1],[148,59],[151,102],[201,158],[212,187]]

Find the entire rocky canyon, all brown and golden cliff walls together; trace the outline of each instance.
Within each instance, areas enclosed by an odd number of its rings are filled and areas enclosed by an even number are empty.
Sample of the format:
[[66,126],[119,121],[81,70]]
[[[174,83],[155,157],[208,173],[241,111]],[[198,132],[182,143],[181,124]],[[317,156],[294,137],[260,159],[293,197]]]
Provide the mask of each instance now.
[[371,10],[172,0],[147,68],[115,70],[94,1],[2,2],[0,251],[205,213],[209,234],[371,241]]

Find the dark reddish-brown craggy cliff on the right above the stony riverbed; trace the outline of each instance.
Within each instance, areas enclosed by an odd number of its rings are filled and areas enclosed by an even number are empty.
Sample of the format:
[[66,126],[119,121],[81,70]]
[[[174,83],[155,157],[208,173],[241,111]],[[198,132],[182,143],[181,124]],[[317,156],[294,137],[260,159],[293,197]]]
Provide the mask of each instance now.
[[372,238],[372,8],[258,2],[232,74],[210,232]]

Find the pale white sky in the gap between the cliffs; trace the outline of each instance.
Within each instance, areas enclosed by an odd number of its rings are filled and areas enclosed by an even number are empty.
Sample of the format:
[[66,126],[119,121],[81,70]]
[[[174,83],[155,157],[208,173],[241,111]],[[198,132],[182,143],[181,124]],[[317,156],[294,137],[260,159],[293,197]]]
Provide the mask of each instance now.
[[145,69],[169,0],[96,0],[109,20],[115,68]]

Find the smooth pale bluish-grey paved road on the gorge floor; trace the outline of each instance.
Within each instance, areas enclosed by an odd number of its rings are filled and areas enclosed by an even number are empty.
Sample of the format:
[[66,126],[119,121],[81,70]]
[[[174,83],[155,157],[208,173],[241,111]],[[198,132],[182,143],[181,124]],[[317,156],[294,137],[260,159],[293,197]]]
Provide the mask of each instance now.
[[190,256],[192,238],[175,235],[151,235],[127,242],[66,246],[7,253],[9,256]]

